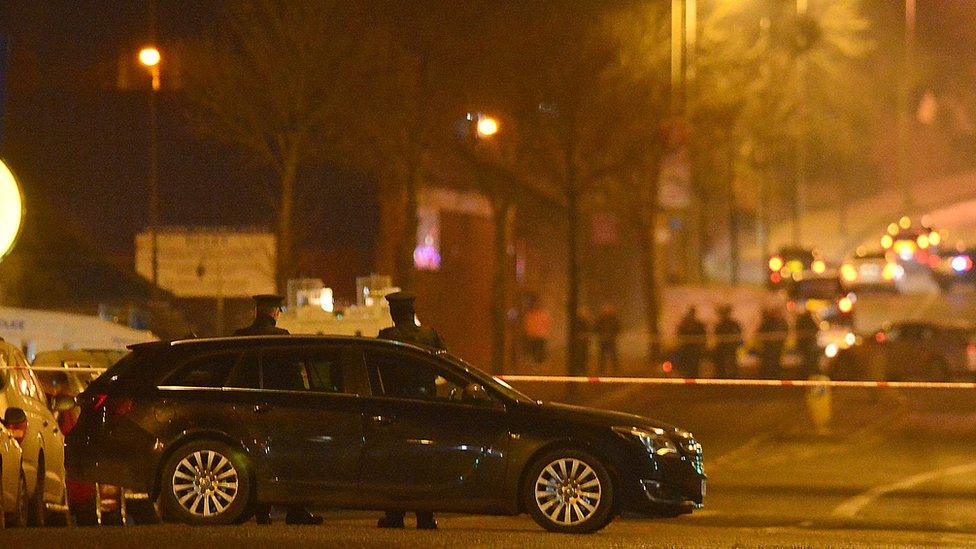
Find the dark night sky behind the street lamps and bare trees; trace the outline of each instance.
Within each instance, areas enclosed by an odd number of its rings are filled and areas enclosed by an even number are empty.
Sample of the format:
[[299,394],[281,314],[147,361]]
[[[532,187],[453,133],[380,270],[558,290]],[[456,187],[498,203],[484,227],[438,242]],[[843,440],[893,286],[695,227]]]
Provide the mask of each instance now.
[[[455,5],[427,4],[445,14]],[[164,55],[167,44],[212,26],[219,6],[214,0],[159,0]],[[867,6],[884,31],[880,45],[894,48],[901,38],[901,3],[872,0]],[[920,0],[919,10],[920,47],[954,61],[942,68],[945,78],[970,74],[976,60],[976,3]],[[119,65],[122,59],[134,60],[148,37],[148,21],[148,1],[0,3],[0,34],[10,49],[0,155],[25,186],[28,208],[53,209],[106,251],[120,255],[132,253],[133,234],[146,224],[148,78],[136,83],[141,89],[119,89]],[[460,27],[466,24],[457,21]],[[255,189],[272,175],[234,151],[190,135],[178,91],[167,89],[165,80],[163,86],[159,175],[164,223],[270,225],[272,216]],[[325,166],[303,177],[309,183],[300,211],[306,245],[372,246],[372,183]]]

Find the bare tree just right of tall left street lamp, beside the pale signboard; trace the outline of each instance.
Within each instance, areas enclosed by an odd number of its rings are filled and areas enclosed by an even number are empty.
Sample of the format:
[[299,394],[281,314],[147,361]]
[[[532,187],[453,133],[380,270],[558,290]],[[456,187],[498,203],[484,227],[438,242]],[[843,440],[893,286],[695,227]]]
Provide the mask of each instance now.
[[303,169],[336,159],[365,81],[367,19],[356,2],[240,0],[219,30],[184,45],[183,92],[201,133],[270,167],[279,290],[295,273],[295,194]]

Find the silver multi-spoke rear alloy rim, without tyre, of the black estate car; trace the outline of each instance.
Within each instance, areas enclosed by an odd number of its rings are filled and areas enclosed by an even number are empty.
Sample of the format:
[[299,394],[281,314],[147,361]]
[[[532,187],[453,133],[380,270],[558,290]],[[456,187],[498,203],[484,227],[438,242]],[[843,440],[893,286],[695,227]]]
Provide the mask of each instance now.
[[226,456],[203,450],[180,460],[173,472],[173,495],[191,515],[224,512],[237,498],[240,475]]

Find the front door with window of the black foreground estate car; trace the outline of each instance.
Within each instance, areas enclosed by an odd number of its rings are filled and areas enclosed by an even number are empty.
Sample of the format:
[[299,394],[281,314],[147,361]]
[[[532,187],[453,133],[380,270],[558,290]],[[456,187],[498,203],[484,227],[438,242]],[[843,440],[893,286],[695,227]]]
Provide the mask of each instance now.
[[364,407],[364,493],[391,504],[453,510],[490,509],[501,501],[504,405],[461,400],[473,380],[432,357],[362,350],[373,389]]

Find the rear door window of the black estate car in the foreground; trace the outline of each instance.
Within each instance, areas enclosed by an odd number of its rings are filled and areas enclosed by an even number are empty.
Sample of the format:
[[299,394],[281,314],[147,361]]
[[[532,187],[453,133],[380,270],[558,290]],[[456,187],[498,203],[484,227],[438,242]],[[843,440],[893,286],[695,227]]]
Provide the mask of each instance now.
[[265,351],[261,373],[265,390],[347,392],[338,348]]

